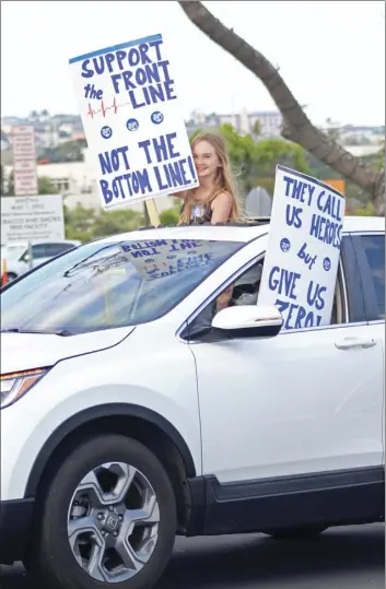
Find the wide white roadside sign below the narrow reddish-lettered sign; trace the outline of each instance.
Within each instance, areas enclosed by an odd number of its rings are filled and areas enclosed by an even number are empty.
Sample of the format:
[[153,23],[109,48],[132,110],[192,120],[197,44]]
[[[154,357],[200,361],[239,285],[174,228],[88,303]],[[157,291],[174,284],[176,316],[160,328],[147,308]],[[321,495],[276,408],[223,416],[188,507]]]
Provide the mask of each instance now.
[[61,195],[1,198],[1,243],[65,239]]

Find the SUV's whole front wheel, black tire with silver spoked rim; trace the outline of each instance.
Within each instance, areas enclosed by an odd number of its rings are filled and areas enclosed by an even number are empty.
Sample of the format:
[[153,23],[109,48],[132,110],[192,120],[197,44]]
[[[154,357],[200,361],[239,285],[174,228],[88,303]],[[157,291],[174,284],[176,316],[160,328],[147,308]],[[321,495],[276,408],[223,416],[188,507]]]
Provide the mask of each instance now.
[[176,534],[176,503],[157,458],[104,435],[81,445],[45,497],[36,567],[47,587],[150,589]]

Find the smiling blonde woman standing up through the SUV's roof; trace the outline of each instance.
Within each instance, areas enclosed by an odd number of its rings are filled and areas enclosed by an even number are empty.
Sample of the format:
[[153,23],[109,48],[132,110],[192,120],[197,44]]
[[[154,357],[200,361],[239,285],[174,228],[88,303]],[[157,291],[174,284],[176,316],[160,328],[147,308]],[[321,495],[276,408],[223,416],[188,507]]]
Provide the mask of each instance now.
[[238,221],[239,205],[224,140],[215,133],[199,133],[191,151],[200,186],[174,195],[184,200],[179,224]]

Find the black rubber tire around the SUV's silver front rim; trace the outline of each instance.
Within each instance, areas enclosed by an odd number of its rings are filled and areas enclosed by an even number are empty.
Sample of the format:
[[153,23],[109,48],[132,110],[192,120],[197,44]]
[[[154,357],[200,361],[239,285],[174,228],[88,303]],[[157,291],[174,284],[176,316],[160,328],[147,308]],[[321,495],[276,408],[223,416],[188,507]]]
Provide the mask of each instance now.
[[[71,498],[80,481],[106,462],[126,462],[151,483],[160,507],[159,539],[143,568],[121,582],[97,581],[77,563],[68,540],[67,518]],[[49,589],[151,589],[163,574],[175,542],[176,500],[171,481],[159,459],[142,444],[119,435],[87,440],[59,467],[45,496],[39,533],[36,538],[33,575]],[[32,558],[27,558],[31,570]]]

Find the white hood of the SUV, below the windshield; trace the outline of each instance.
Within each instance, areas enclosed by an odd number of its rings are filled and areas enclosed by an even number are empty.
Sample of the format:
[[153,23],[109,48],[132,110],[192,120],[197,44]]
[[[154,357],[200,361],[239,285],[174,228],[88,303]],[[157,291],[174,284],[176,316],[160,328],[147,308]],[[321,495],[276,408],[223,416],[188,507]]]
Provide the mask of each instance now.
[[126,327],[68,337],[1,333],[1,374],[54,366],[60,360],[114,347],[134,329]]

